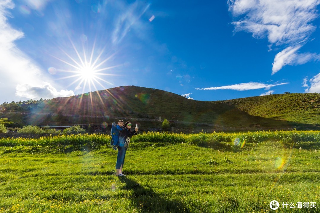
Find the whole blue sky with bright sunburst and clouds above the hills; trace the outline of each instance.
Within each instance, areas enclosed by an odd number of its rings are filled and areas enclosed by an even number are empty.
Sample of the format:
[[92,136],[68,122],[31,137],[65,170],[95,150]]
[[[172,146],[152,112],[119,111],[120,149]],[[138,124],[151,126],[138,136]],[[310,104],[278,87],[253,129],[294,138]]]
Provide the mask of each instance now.
[[0,103],[111,87],[320,92],[319,0],[2,0]]

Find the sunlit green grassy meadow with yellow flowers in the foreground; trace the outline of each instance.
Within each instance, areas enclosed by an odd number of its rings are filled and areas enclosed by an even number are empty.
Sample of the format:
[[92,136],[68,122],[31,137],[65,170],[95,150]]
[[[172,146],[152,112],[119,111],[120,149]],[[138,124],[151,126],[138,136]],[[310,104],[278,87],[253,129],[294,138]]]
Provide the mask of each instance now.
[[140,133],[124,178],[108,139],[0,139],[0,213],[320,212],[320,131]]

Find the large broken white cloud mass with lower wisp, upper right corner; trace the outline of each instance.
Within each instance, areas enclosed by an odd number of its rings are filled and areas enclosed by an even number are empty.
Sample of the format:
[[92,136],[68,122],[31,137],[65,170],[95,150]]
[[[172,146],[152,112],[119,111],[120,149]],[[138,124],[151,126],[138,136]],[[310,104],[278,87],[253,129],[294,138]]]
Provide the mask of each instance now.
[[267,36],[272,45],[287,46],[276,55],[272,74],[285,65],[319,59],[315,53],[296,53],[316,29],[312,21],[319,16],[319,4],[319,0],[228,0],[229,11],[234,17],[245,15],[233,22],[235,32],[247,31],[254,38]]

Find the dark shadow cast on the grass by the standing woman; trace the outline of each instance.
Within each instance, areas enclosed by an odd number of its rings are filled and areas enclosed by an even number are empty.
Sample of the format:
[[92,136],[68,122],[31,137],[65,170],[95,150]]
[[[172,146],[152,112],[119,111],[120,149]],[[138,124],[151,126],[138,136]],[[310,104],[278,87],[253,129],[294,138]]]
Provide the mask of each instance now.
[[133,190],[131,198],[132,204],[136,205],[141,212],[190,212],[182,202],[163,198],[153,192],[151,187],[144,188],[139,183],[127,177],[120,177],[119,179],[125,183],[124,189]]

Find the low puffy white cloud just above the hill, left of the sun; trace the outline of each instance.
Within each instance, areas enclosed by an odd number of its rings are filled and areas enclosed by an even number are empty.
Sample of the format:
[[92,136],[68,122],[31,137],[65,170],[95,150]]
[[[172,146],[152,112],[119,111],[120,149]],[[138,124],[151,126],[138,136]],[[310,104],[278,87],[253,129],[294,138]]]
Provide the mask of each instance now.
[[75,95],[73,91],[61,90],[57,91],[56,88],[52,87],[52,85],[48,82],[44,82],[42,86],[30,86],[28,84],[17,85],[16,87],[16,95],[19,97],[27,97],[30,99],[51,99],[56,97],[68,97]]

